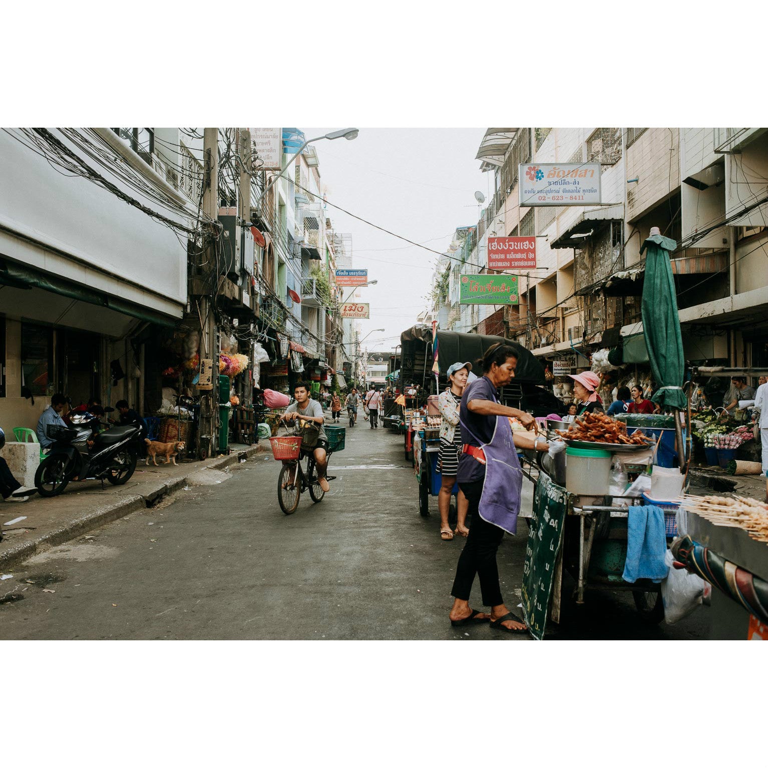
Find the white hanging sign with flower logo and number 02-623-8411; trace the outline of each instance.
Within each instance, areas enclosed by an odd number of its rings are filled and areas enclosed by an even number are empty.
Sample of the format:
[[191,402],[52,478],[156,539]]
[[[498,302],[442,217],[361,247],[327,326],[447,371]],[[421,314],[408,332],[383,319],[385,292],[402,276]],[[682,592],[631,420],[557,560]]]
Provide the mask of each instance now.
[[520,166],[520,205],[600,205],[600,163]]

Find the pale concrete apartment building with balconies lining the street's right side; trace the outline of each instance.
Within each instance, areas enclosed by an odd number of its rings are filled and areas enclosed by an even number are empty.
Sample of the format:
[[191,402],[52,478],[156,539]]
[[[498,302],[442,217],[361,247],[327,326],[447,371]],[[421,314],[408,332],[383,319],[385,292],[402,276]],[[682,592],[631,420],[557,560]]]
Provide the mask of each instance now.
[[[571,355],[577,368],[621,336],[642,363],[640,250],[657,226],[677,241],[687,359],[768,363],[768,129],[489,128],[478,159],[495,194],[435,275],[442,327],[515,338],[548,361]],[[520,164],[588,162],[601,164],[600,206],[518,204]],[[517,270],[519,305],[458,304],[458,274],[484,272],[488,237],[513,235],[537,248],[538,269]]]

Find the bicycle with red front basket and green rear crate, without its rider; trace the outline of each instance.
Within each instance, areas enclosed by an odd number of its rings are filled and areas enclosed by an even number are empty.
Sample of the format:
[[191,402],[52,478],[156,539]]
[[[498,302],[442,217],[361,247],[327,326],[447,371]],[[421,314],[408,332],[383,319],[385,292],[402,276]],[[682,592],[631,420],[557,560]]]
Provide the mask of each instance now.
[[[326,457],[330,462],[334,451],[344,449],[344,428],[328,425],[326,433],[329,437]],[[302,438],[297,435],[270,438],[274,458],[283,462],[277,476],[277,501],[285,515],[293,515],[305,491],[310,492],[310,498],[315,504],[322,502],[326,495],[319,485],[314,449],[302,449],[301,442]],[[328,482],[335,479],[336,475],[326,474]]]

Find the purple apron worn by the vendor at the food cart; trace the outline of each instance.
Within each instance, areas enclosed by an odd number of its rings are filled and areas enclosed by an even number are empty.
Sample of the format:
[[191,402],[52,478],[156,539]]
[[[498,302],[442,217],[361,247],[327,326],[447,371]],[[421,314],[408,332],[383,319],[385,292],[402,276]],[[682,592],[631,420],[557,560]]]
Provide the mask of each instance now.
[[483,443],[464,422],[461,423],[462,429],[466,429],[468,434],[481,443],[485,453],[485,481],[478,514],[486,522],[515,534],[518,529],[523,473],[509,419],[496,416],[496,425],[489,443]]

